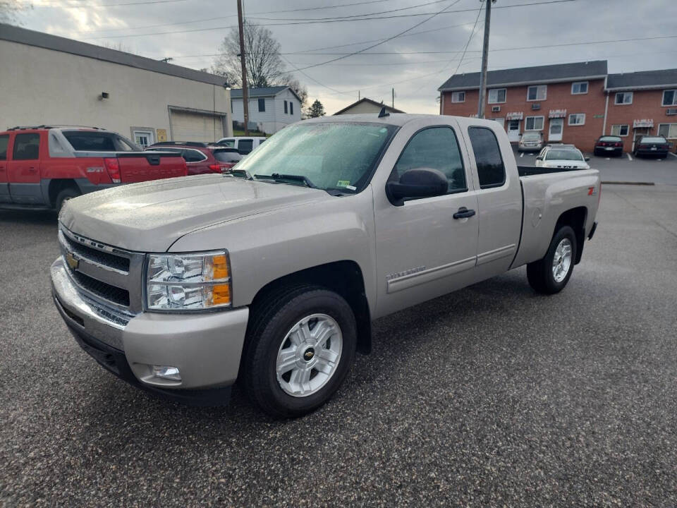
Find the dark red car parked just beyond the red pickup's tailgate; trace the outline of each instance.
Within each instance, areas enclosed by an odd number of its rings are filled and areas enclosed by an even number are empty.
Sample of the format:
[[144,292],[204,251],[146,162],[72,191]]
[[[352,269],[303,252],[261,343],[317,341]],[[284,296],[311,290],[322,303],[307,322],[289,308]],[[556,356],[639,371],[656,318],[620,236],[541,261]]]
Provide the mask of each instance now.
[[242,155],[235,148],[207,143],[168,141],[154,143],[146,148],[151,152],[178,152],[185,159],[188,174],[223,173],[240,162]]

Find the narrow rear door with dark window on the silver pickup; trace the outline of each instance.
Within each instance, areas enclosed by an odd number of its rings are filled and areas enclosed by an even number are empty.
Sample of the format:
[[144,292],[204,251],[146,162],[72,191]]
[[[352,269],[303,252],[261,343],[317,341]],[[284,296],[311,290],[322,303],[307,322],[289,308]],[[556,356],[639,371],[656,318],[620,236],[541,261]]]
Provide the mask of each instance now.
[[508,270],[515,258],[522,229],[522,189],[515,156],[502,132],[470,124],[465,133],[477,188],[477,274],[488,279]]

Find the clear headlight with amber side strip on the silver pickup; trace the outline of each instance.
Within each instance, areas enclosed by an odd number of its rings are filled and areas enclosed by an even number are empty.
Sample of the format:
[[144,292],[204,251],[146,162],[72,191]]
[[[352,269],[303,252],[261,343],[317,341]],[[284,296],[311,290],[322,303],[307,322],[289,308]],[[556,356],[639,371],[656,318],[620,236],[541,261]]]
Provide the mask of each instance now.
[[204,310],[231,306],[228,253],[150,254],[148,310]]

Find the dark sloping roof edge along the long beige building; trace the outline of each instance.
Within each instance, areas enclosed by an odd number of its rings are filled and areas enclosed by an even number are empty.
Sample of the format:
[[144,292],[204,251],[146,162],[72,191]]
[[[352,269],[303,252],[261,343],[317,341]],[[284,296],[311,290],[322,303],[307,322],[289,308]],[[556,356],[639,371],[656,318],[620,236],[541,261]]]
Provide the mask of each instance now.
[[0,23],[0,40],[17,42],[28,46],[52,49],[54,51],[70,53],[87,58],[119,63],[120,65],[140,68],[145,71],[152,71],[160,74],[172,75],[177,78],[184,78],[209,85],[227,86],[226,78],[219,75],[209,74],[195,69],[176,66],[171,63],[157,61],[145,56],[138,56],[116,49],[109,49],[87,42],[80,42],[66,37],[49,35],[44,32],[35,32],[35,30],[26,30],[13,25]]

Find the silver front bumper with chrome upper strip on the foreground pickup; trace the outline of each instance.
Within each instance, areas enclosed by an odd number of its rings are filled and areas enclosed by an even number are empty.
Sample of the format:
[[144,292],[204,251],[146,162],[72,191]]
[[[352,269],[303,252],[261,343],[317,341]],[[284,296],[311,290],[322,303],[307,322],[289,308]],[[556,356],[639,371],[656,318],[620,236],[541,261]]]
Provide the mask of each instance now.
[[[131,384],[200,399],[238,377],[249,309],[212,313],[140,313],[120,316],[80,294],[63,259],[51,265],[54,303],[78,344],[107,370]],[[179,369],[181,381],[154,377],[152,365]]]

